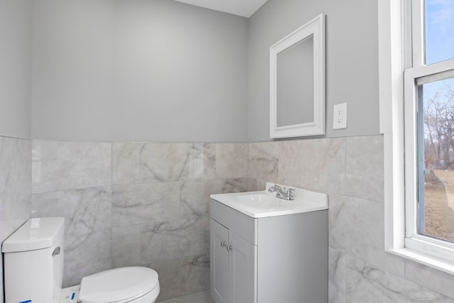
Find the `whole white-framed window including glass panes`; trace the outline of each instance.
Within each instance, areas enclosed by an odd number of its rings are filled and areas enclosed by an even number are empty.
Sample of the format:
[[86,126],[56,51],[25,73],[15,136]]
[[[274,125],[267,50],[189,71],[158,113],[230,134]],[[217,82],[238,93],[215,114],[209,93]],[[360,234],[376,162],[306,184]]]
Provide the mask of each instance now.
[[454,273],[454,1],[379,6],[387,250]]

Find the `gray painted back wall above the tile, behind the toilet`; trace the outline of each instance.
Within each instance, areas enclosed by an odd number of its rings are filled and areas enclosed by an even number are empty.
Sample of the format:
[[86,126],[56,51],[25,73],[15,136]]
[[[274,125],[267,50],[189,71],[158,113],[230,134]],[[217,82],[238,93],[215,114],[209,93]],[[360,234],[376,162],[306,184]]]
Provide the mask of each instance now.
[[32,136],[246,141],[248,19],[167,0],[37,1]]

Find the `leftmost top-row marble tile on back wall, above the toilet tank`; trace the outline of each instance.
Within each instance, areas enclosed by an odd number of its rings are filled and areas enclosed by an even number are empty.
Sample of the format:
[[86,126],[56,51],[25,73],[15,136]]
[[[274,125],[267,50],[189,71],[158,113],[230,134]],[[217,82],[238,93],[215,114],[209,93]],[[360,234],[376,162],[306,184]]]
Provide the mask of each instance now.
[[33,142],[33,193],[111,184],[111,143]]

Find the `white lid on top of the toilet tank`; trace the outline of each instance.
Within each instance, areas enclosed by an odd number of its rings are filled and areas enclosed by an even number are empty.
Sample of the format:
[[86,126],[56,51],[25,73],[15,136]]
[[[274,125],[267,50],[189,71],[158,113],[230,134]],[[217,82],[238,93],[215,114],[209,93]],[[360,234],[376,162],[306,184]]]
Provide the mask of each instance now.
[[65,218],[33,218],[19,227],[1,246],[2,253],[52,247],[63,236]]

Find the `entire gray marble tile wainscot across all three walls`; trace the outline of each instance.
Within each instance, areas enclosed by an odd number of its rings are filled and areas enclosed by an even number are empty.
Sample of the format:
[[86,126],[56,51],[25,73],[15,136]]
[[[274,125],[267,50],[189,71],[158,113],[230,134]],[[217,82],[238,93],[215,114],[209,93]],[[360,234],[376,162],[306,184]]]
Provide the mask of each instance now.
[[328,194],[328,302],[454,302],[451,275],[384,252],[382,136],[263,143],[0,137],[0,168],[0,240],[29,216],[64,216],[65,286],[142,265],[159,272],[160,299],[209,289],[209,194],[264,189],[268,181]]

